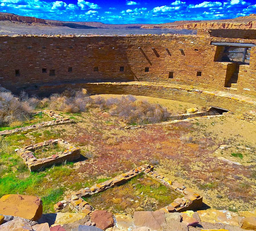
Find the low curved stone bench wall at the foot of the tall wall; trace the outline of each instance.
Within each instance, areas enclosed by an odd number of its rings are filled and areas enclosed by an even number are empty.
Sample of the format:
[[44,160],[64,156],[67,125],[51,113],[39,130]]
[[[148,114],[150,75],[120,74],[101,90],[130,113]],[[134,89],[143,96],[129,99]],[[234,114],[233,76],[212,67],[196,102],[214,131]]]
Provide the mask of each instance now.
[[220,107],[230,110],[235,114],[256,110],[256,102],[251,101],[250,98],[243,96],[235,98],[223,92],[209,92],[148,83],[87,83],[80,87],[86,88],[91,94],[131,94],[150,96],[194,103],[205,107]]

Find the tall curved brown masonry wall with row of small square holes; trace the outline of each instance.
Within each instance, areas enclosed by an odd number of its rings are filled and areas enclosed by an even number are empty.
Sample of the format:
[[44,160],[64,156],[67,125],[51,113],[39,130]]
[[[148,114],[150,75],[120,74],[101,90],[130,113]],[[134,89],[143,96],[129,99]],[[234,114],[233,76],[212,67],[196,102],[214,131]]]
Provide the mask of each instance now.
[[[0,36],[0,85],[14,93],[25,90],[39,95],[67,85],[76,88],[81,83],[113,81],[174,83],[226,91],[225,82],[235,64],[220,62],[221,49],[211,42],[256,44],[256,39],[211,37],[208,32],[124,37]],[[121,66],[124,72],[119,72]],[[69,67],[72,72],[68,72]],[[94,72],[94,67],[99,71]],[[149,72],[144,72],[145,67]],[[47,73],[42,73],[42,68]],[[20,76],[15,76],[15,70]],[[55,76],[49,76],[49,70],[55,70]],[[172,79],[169,72],[173,72]],[[197,72],[202,72],[201,76]],[[252,48],[250,65],[240,66],[235,93],[256,95],[255,72],[256,52]]]

